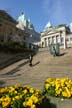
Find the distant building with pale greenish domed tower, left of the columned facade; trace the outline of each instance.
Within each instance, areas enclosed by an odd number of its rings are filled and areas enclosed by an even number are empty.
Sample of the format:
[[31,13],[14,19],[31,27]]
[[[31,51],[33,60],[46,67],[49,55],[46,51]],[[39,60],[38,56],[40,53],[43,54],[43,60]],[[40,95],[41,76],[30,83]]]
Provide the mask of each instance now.
[[37,45],[38,41],[40,41],[40,33],[36,32],[34,25],[31,23],[30,19],[26,18],[23,12],[17,19],[16,27],[29,34],[29,37],[27,38],[28,43]]

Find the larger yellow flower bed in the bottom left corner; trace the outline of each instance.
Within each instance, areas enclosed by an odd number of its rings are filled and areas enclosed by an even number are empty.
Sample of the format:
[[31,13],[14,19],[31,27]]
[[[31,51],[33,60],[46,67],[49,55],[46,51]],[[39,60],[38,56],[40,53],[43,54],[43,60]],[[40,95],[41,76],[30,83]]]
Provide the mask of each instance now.
[[0,88],[0,108],[38,108],[44,99],[40,90],[15,85]]

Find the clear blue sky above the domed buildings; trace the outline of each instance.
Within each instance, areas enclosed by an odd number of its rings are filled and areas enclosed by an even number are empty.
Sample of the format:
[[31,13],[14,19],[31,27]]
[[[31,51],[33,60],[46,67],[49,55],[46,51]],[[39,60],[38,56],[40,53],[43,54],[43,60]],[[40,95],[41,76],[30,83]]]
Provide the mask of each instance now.
[[0,9],[17,20],[21,12],[42,32],[48,21],[52,26],[72,22],[72,0],[0,0]]

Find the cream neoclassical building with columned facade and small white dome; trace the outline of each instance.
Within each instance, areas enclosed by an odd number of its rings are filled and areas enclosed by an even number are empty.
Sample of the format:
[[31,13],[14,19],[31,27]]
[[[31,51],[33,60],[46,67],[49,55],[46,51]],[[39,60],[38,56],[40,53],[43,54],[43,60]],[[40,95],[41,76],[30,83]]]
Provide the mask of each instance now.
[[41,32],[41,47],[48,47],[50,44],[59,43],[61,48],[72,47],[72,33],[68,26],[62,24],[52,27],[47,24],[45,30]]

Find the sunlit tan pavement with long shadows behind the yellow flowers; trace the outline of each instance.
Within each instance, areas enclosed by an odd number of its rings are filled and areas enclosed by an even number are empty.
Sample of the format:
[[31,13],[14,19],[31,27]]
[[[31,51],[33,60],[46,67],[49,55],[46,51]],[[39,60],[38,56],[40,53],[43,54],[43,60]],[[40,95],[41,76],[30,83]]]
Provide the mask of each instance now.
[[[43,89],[44,81],[48,77],[68,77],[72,79],[72,48],[61,50],[60,56],[53,57],[48,51],[42,51],[33,57],[33,66],[29,66],[28,59],[22,59],[0,70],[1,86],[11,86],[16,83],[30,85]],[[72,99],[64,100],[50,98],[56,104],[52,108],[72,108]]]

